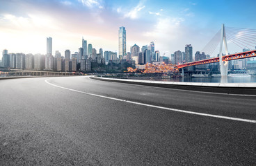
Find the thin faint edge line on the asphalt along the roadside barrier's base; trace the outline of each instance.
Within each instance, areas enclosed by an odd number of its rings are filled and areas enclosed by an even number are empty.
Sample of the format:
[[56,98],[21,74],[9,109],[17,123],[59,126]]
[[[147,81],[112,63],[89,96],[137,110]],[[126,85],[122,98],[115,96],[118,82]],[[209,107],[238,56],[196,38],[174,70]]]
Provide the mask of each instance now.
[[[206,93],[206,94],[214,94],[214,95],[234,95],[234,96],[249,96],[249,97],[256,97],[256,95],[245,95],[245,94],[232,94],[232,93],[216,93],[216,92],[207,92],[207,91],[192,91],[192,90],[186,90],[186,89],[173,89],[173,88],[165,88],[165,87],[159,87],[159,86],[150,86],[150,85],[140,85],[140,84],[132,84],[132,83],[125,83],[125,82],[115,82],[115,81],[106,81],[106,80],[96,80],[93,78],[90,78],[90,80],[98,81],[98,82],[110,82],[110,83],[119,83],[119,84],[127,84],[132,86],[147,86],[149,89],[171,89],[175,91],[189,91],[189,92],[195,92],[195,93]],[[122,81],[122,80],[121,80]]]

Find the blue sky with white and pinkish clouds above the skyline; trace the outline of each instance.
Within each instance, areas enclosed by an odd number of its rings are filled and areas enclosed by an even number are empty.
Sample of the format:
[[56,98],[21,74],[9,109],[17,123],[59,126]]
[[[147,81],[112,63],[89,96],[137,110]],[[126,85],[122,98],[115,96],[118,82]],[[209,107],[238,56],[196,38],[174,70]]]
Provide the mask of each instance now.
[[222,24],[256,29],[255,5],[255,0],[0,0],[0,50],[46,54],[52,37],[53,54],[64,55],[66,49],[78,51],[83,37],[97,52],[118,51],[118,29],[125,26],[127,51],[154,42],[155,50],[170,57],[191,44],[194,55]]

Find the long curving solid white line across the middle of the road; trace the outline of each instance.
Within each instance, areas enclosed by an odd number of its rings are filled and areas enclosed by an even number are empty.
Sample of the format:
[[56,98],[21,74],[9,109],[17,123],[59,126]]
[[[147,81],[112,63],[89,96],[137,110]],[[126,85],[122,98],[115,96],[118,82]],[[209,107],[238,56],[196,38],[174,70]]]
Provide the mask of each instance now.
[[120,101],[120,102],[128,102],[128,103],[131,103],[131,104],[138,104],[138,105],[143,105],[143,106],[146,106],[146,107],[153,107],[153,108],[157,108],[157,109],[166,109],[166,110],[170,110],[170,111],[189,113],[189,114],[194,114],[194,115],[198,115],[198,116],[208,116],[208,117],[213,117],[213,118],[221,118],[221,119],[227,119],[227,120],[237,120],[237,121],[241,121],[241,122],[256,123],[256,120],[233,118],[233,117],[229,117],[229,116],[217,116],[217,115],[208,114],[208,113],[198,113],[198,112],[193,112],[193,111],[185,111],[185,110],[182,110],[182,109],[171,109],[171,108],[168,108],[168,107],[161,107],[161,106],[156,106],[156,105],[152,105],[152,104],[145,104],[145,103],[141,103],[141,102],[132,102],[132,101],[129,101],[129,100],[122,100],[122,99],[118,99],[118,98],[111,98],[111,97],[104,96],[104,95],[97,95],[97,94],[93,94],[93,93],[87,93],[87,92],[83,92],[83,91],[77,91],[77,90],[74,90],[74,89],[65,88],[63,86],[58,86],[56,84],[51,84],[47,80],[45,80],[45,82],[47,84],[50,84],[51,86],[56,86],[56,87],[61,88],[61,89],[66,89],[66,90],[74,91],[74,92],[77,92],[77,93],[83,93],[83,94],[86,94],[86,95],[93,95],[93,96],[97,96],[99,98],[117,100],[117,101]]

